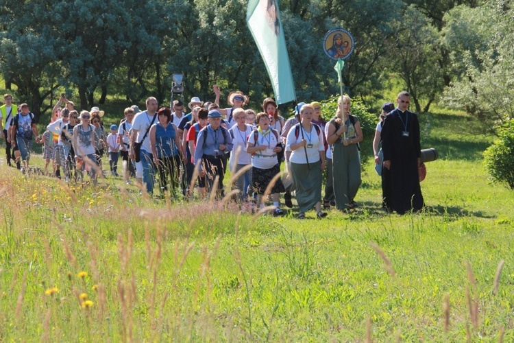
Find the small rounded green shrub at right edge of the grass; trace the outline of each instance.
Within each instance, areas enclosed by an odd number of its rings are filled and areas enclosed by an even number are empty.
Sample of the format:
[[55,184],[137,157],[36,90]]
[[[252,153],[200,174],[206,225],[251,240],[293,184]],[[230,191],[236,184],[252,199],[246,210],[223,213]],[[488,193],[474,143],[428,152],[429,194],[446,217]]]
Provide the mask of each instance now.
[[498,141],[484,152],[485,168],[493,182],[514,189],[514,120],[506,121],[498,130]]

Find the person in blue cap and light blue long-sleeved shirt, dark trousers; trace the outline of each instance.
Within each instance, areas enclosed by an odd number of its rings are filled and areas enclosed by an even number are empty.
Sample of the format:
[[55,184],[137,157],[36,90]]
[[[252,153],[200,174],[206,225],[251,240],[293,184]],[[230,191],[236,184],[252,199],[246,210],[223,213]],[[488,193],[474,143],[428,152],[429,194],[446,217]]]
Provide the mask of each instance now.
[[206,176],[208,189],[213,191],[215,178],[218,176],[217,195],[223,196],[223,177],[225,166],[223,155],[232,151],[232,137],[226,128],[221,126],[221,113],[219,110],[210,110],[208,113],[209,125],[201,129],[198,134],[195,149],[195,168],[199,176]]

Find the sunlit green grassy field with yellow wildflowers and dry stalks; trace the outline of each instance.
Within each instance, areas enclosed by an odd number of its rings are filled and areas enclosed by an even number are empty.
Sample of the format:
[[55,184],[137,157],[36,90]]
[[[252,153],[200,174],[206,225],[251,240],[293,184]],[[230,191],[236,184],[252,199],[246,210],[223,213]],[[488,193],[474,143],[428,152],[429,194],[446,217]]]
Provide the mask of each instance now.
[[420,121],[440,158],[415,215],[382,211],[371,163],[356,211],[301,222],[1,165],[0,341],[513,341],[514,193],[487,181],[492,139],[458,113]]

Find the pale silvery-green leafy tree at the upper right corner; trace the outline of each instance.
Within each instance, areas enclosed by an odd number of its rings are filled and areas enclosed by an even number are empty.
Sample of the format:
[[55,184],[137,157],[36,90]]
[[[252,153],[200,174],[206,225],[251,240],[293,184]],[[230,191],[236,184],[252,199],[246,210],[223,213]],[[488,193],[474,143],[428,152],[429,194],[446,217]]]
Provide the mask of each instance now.
[[514,117],[514,10],[489,1],[482,8],[455,8],[445,20],[445,44],[461,71],[445,88],[445,104],[476,115],[485,131],[495,133]]

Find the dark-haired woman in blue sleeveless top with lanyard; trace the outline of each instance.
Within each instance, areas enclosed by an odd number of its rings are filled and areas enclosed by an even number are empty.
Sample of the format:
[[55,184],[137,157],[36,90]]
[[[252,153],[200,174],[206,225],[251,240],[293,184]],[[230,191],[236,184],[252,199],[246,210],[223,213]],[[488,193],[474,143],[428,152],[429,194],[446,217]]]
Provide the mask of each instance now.
[[171,193],[179,185],[180,156],[183,156],[178,129],[171,123],[171,110],[160,108],[157,112],[158,122],[151,126],[148,136],[150,139],[151,154],[159,173],[159,185],[161,196],[168,190],[168,183],[171,185]]

